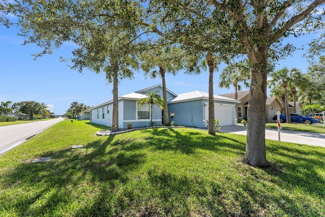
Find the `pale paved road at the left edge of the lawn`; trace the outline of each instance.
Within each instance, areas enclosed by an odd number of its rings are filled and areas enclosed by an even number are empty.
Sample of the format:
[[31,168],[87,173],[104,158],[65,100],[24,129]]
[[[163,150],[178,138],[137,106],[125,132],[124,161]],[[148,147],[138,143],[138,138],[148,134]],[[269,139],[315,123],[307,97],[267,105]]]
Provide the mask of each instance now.
[[41,133],[64,118],[22,123],[0,127],[0,155],[23,143],[27,138]]

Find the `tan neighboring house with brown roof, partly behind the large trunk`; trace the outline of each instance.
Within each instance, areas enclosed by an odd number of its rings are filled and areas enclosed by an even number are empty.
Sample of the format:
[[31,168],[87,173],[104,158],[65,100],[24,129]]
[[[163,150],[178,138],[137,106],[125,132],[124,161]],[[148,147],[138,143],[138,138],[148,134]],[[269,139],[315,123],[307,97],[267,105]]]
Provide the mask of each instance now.
[[[227,97],[231,99],[235,99],[235,93],[231,94],[222,94],[222,97]],[[238,92],[238,100],[240,103],[237,103],[237,116],[238,122],[247,117],[247,107],[248,107],[248,100],[249,100],[249,90],[246,91],[239,91]],[[265,111],[266,111],[266,121],[272,121],[272,117],[276,115],[278,110],[281,111],[282,109],[281,102],[275,97],[268,97],[265,103]]]

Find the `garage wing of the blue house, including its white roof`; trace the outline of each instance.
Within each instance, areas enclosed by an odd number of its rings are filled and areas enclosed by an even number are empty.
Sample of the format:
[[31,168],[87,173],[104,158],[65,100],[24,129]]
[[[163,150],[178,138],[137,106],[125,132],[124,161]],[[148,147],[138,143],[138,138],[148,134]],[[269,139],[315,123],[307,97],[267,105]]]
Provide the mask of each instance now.
[[[237,125],[236,103],[226,97],[214,95],[214,117],[220,119],[220,126]],[[193,91],[179,94],[168,101],[168,109],[175,114],[173,119],[176,125],[206,128],[209,119],[209,94]]]

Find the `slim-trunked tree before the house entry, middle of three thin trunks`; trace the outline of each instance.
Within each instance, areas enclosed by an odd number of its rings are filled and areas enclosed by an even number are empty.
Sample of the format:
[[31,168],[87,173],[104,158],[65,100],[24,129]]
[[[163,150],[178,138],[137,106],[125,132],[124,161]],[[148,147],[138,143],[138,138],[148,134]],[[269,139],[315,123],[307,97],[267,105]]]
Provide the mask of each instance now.
[[[140,56],[142,61],[141,68],[145,74],[149,74],[151,78],[161,77],[163,84],[163,99],[164,99],[164,125],[169,126],[169,114],[167,104],[167,88],[166,88],[166,73],[176,75],[177,70],[182,68],[181,50],[176,47],[157,47],[156,49],[147,50]],[[158,71],[152,69],[158,67]]]

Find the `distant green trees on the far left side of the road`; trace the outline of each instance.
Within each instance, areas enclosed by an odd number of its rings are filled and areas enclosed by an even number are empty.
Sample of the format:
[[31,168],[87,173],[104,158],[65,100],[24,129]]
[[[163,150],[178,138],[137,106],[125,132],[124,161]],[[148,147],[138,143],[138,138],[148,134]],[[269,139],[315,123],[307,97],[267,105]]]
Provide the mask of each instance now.
[[0,115],[6,115],[10,112],[27,114],[29,119],[34,118],[53,118],[54,112],[47,109],[44,103],[35,101],[23,101],[13,103],[11,101],[1,102]]

